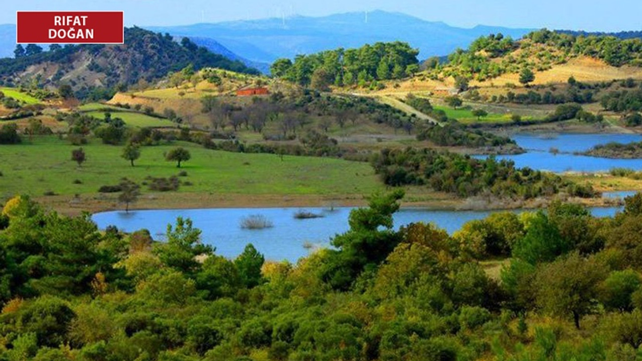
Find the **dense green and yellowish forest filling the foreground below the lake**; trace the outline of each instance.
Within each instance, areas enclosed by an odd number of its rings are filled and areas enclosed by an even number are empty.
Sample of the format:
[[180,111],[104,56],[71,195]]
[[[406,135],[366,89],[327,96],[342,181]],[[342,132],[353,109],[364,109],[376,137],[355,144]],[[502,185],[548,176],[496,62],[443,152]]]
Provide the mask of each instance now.
[[0,359],[636,360],[642,195],[614,218],[555,202],[452,236],[392,228],[402,197],[372,195],[296,264],[217,256],[189,219],[158,243],[12,198]]

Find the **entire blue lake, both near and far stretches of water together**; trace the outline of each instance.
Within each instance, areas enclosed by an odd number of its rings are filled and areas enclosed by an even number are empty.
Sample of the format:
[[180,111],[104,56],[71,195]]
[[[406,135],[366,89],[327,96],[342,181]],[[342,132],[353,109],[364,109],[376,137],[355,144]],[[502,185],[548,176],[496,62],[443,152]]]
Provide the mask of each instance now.
[[[517,134],[513,137],[517,144],[526,148],[528,153],[506,155],[502,158],[513,159],[517,166],[529,166],[539,170],[553,172],[606,171],[614,167],[642,170],[642,159],[603,159],[584,157],[573,154],[554,155],[550,148],[560,152],[579,152],[603,143],[612,141],[630,143],[641,141],[637,134],[560,134],[541,136]],[[605,193],[605,197],[623,198],[634,192]],[[101,229],[116,225],[123,231],[136,231],[146,228],[156,240],[163,240],[168,224],[173,224],[178,216],[191,218],[195,227],[202,229],[204,243],[214,245],[216,253],[234,258],[247,243],[254,246],[269,260],[296,261],[306,256],[316,247],[328,247],[329,241],[338,233],[348,229],[348,215],[351,208],[338,208],[328,211],[322,208],[309,208],[313,213],[322,213],[324,217],[299,220],[294,218],[298,208],[230,208],[230,209],[176,209],[133,211],[125,213],[112,211],[97,213],[92,219]],[[617,208],[591,209],[596,216],[612,216]],[[394,216],[395,227],[412,222],[433,222],[438,227],[453,233],[465,222],[484,218],[491,211],[435,211],[430,209],[401,209]],[[249,215],[263,215],[273,223],[272,228],[261,230],[241,229],[240,223]],[[306,247],[304,247],[306,246]]]

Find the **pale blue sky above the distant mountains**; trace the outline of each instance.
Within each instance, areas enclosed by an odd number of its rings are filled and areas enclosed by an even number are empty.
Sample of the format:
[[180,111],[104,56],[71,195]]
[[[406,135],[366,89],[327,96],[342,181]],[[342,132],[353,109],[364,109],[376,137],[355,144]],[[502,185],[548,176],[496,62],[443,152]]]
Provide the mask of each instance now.
[[124,10],[126,26],[386,10],[462,28],[642,30],[640,0],[1,0],[0,24],[14,24],[17,10]]

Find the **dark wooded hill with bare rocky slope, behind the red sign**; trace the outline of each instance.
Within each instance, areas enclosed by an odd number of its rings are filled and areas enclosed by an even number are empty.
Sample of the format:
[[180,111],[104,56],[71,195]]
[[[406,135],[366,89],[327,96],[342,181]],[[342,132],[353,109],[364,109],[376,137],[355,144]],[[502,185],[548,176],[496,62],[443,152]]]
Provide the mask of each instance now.
[[198,47],[189,39],[179,44],[168,34],[126,28],[125,44],[65,46],[50,51],[36,49],[19,58],[0,59],[0,80],[8,85],[38,82],[39,86],[56,88],[69,84],[76,96],[86,96],[100,87],[152,82],[189,64],[194,69],[220,67],[241,73],[259,73],[238,60]]

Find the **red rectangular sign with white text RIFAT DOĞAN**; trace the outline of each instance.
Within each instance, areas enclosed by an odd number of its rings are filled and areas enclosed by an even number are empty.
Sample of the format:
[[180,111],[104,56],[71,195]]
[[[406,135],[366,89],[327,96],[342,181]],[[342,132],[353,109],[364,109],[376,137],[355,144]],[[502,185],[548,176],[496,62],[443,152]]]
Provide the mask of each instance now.
[[17,12],[18,44],[123,44],[123,12]]

